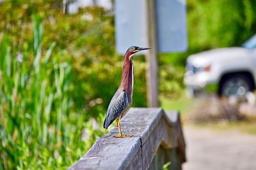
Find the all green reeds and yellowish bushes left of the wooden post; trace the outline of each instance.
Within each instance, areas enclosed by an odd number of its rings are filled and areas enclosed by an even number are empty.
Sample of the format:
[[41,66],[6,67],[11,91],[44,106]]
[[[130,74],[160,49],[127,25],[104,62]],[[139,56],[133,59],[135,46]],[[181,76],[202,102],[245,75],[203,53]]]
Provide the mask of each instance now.
[[[0,169],[67,169],[106,132],[123,61],[113,17],[99,7],[64,15],[61,5],[0,3]],[[133,106],[145,106],[145,63],[134,64]]]

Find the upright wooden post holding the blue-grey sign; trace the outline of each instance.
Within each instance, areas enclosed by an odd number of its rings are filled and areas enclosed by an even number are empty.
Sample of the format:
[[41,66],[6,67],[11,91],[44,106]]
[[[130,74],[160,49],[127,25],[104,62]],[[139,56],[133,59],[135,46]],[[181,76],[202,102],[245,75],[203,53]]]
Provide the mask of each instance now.
[[152,49],[146,53],[147,61],[147,105],[157,107],[158,104],[158,61],[157,61],[157,28],[155,1],[147,0],[147,32],[148,46]]

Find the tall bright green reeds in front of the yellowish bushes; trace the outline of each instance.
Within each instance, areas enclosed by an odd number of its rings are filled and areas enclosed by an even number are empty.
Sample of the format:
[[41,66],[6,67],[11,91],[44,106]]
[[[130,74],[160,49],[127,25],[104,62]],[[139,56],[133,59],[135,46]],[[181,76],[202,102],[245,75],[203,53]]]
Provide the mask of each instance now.
[[[66,168],[102,135],[75,107],[71,59],[62,61],[63,52],[52,55],[56,43],[42,53],[42,33],[42,22],[33,15],[33,46],[27,51],[19,52],[7,36],[1,40],[2,168]],[[83,140],[85,129],[90,129],[90,138]]]

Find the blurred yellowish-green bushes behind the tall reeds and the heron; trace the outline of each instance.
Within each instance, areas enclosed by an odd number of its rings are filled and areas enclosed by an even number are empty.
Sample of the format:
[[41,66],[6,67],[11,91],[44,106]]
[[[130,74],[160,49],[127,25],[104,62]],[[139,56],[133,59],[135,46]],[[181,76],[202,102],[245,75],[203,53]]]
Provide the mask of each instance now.
[[[118,88],[123,58],[115,53],[114,18],[109,11],[94,6],[64,15],[60,0],[4,1],[0,3],[0,10],[3,13],[0,15],[1,34],[20,52],[30,50],[28,47],[33,44],[31,15],[36,13],[39,20],[44,20],[42,52],[54,41],[53,53],[65,49],[61,60],[71,57],[72,71],[76,73],[72,80],[74,107],[84,110],[88,118],[104,114]],[[140,85],[134,89],[134,106],[146,105],[144,68],[135,72]],[[96,99],[98,103],[92,104]]]

